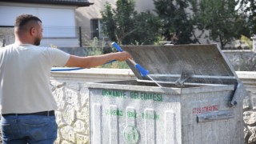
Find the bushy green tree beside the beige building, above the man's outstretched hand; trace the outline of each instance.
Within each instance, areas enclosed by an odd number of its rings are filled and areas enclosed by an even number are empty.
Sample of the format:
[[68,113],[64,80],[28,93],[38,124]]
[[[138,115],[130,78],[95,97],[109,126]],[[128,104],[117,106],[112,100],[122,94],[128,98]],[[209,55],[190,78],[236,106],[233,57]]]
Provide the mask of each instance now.
[[102,11],[102,32],[120,44],[154,44],[158,37],[158,18],[149,11],[138,14],[134,0],[118,0],[114,10],[106,3]]

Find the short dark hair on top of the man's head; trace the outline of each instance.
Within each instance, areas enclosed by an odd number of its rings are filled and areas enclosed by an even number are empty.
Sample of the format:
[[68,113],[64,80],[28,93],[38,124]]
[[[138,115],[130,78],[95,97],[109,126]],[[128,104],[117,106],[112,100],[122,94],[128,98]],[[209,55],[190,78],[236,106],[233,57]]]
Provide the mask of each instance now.
[[16,18],[14,27],[17,27],[18,29],[20,29],[22,26],[25,26],[28,22],[31,22],[31,21],[42,22],[40,18],[34,15],[21,14],[21,15],[18,15],[18,17]]

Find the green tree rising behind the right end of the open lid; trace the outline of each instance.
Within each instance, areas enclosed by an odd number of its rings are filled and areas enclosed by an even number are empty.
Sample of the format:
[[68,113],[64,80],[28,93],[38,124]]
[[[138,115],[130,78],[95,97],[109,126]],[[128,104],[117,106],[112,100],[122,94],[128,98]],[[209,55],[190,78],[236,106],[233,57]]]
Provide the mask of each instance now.
[[235,9],[238,0],[190,0],[194,11],[194,25],[198,30],[209,30],[209,38],[220,42],[222,49],[246,34],[242,14]]

